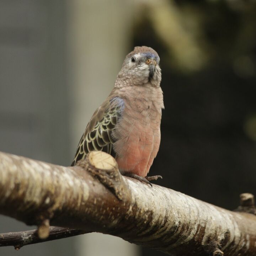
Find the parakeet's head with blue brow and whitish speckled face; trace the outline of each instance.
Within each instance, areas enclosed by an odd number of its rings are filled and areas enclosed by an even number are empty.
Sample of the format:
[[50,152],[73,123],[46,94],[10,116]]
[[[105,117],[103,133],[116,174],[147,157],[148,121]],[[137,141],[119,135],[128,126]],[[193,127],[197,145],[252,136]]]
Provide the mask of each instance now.
[[137,46],[126,56],[117,78],[121,81],[129,81],[129,84],[133,85],[150,82],[158,87],[161,81],[159,61],[160,58],[155,50],[146,46]]

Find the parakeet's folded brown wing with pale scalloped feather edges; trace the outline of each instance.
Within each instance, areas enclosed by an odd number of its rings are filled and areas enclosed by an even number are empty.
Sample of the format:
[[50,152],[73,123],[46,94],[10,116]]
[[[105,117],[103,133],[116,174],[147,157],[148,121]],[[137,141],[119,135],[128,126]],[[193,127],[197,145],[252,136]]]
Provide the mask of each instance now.
[[112,148],[116,138],[113,138],[112,131],[120,120],[123,110],[124,100],[118,96],[108,97],[103,102],[87,124],[71,166],[74,166],[77,161],[85,159],[90,151],[105,151],[116,157]]

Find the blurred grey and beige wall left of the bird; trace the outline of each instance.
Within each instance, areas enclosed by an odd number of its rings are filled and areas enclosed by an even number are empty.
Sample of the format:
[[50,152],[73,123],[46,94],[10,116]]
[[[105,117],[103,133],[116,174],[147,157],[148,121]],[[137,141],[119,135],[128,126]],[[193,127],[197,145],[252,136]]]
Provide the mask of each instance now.
[[[95,108],[130,50],[129,1],[0,1],[0,150],[69,165]],[[0,233],[26,226],[0,216]],[[88,234],[0,255],[138,255]]]

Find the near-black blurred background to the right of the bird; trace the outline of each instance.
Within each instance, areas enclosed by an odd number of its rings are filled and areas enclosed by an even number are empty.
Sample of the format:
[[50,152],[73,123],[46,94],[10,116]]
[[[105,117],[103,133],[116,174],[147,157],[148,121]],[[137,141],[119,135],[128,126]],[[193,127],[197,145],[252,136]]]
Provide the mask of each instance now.
[[[150,42],[159,53],[165,104],[160,150],[150,174],[162,175],[157,181],[162,186],[233,210],[240,193],[256,194],[255,4],[172,4],[181,19],[196,14],[194,42],[204,63],[174,60],[175,50],[159,38],[149,9],[144,10],[134,28],[134,45]],[[143,255],[164,254],[143,249]]]

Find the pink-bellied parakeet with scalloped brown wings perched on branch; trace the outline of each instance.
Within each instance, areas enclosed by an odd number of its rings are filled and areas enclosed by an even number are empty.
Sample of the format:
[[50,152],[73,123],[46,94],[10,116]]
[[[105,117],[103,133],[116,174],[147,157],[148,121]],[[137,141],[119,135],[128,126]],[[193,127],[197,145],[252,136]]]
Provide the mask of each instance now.
[[91,151],[112,155],[122,175],[148,183],[147,176],[160,145],[164,109],[158,53],[137,46],[124,59],[114,88],[92,115],[71,166]]

